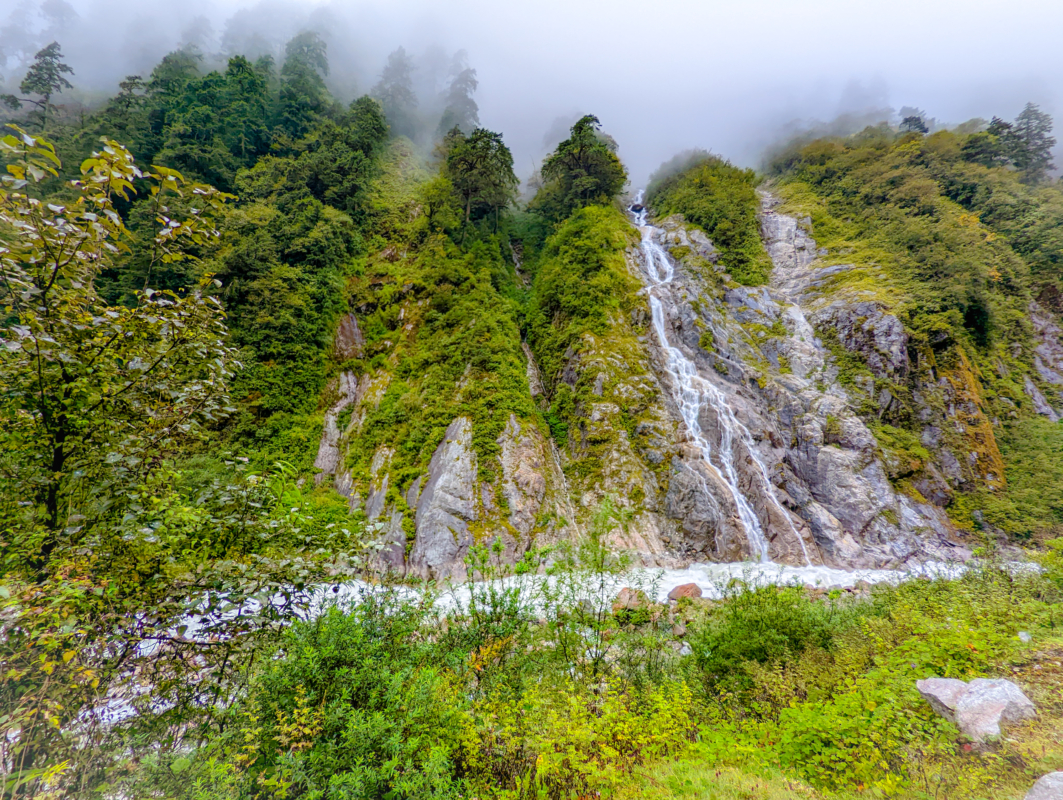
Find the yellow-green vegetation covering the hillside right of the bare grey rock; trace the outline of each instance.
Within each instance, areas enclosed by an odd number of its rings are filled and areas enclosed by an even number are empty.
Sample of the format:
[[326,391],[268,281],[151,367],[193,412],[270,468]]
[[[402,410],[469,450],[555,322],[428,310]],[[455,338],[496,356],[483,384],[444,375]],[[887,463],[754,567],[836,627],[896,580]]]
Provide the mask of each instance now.
[[[1063,523],[1048,489],[1058,481],[1049,463],[1056,426],[1036,419],[1026,385],[1060,405],[1057,379],[1037,367],[1043,340],[1031,304],[1059,310],[1063,192],[1043,180],[1024,182],[1002,156],[986,159],[982,149],[999,148],[997,140],[870,129],[787,153],[773,172],[784,207],[807,216],[827,248],[824,263],[851,265],[831,291],[880,301],[905,325],[913,370],[889,387],[897,402],[876,415],[918,436],[918,395],[929,380],[965,384],[994,422],[969,426],[956,442],[986,469],[950,511],[968,527],[977,513],[978,524],[1029,537]],[[1005,474],[985,478],[1001,458]],[[1047,491],[1034,497],[1025,490],[1031,480]]]

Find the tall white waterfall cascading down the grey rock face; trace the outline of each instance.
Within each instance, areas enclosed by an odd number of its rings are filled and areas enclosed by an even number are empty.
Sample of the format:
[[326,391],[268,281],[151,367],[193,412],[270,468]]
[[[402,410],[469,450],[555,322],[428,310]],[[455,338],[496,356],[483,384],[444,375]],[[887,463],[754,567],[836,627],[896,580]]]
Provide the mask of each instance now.
[[[639,208],[640,210],[635,211],[634,208]],[[767,475],[767,466],[758,455],[748,428],[735,416],[735,412],[731,410],[723,392],[698,375],[694,362],[681,350],[672,346],[669,341],[668,326],[664,322],[664,305],[661,302],[660,294],[667,291],[668,285],[672,283],[674,268],[668,253],[654,239],[654,234],[659,228],[646,222],[646,209],[642,207],[641,191],[636,198],[632,214],[635,214],[636,224],[638,224],[639,231],[642,234],[643,266],[649,290],[649,310],[653,316],[654,330],[657,334],[661,351],[667,356],[664,369],[672,377],[673,399],[679,409],[679,413],[682,415],[682,421],[687,426],[691,439],[701,450],[705,463],[730,490],[731,496],[735,498],[735,505],[738,508],[739,518],[745,528],[750,554],[763,562],[771,561],[767,538],[764,535],[760,520],[757,517],[753,505],[739,488],[738,470],[735,466],[736,438],[740,439],[745,445],[746,452],[760,472],[765,494],[776,509],[778,509],[782,518],[790,524],[791,530],[793,530],[797,541],[800,542],[806,563],[811,564],[808,551],[805,548],[804,539],[793,527],[789,514],[787,514],[775,497],[772,482]],[[708,404],[715,410],[720,421],[720,447],[715,461],[713,460],[712,446],[702,430],[701,411],[705,404]]]

